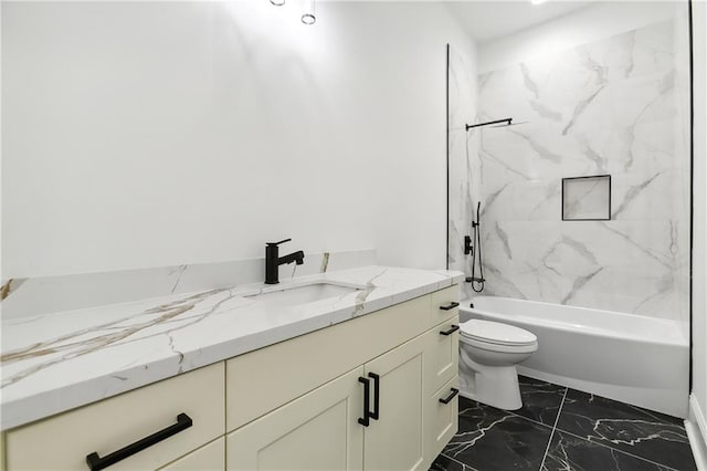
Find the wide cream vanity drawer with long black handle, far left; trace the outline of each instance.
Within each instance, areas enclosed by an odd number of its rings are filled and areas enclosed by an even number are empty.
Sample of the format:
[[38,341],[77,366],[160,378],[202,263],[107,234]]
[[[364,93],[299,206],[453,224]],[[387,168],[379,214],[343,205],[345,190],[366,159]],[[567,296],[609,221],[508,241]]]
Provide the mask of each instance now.
[[85,471],[86,456],[105,458],[169,428],[168,438],[109,468],[157,469],[224,433],[224,376],[219,363],[10,430],[7,468]]

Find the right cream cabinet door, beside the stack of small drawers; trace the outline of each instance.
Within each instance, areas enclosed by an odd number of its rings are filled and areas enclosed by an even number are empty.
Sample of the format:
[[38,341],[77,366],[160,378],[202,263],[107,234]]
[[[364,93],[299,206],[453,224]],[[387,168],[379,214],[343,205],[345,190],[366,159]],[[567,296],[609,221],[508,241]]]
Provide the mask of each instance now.
[[[413,338],[367,363],[366,374],[380,377],[379,418],[366,428],[366,470],[419,470],[424,468],[423,385],[424,354],[429,341]],[[371,381],[371,397],[373,393]],[[371,400],[373,408],[373,400]]]

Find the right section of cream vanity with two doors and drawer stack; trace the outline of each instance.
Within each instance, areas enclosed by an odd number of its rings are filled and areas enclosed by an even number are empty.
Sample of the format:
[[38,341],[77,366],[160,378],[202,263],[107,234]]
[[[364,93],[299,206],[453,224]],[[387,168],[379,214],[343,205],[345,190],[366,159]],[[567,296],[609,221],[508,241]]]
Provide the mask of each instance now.
[[226,469],[426,470],[456,432],[457,296],[452,286],[228,360]]

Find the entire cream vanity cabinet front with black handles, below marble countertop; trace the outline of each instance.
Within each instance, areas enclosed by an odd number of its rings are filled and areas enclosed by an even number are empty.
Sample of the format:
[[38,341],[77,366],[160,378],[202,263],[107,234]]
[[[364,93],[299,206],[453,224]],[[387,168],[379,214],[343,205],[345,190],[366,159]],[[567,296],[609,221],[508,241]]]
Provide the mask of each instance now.
[[456,432],[457,300],[453,285],[18,427],[0,469],[88,470],[186,415],[107,469],[426,470]]

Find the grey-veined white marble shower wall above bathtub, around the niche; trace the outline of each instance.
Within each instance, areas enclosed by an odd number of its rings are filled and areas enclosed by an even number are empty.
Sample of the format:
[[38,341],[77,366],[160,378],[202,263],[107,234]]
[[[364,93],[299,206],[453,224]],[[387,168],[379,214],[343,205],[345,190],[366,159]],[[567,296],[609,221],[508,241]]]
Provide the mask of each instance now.
[[[525,122],[469,133],[479,168],[463,198],[481,195],[486,294],[687,322],[684,21],[478,76],[479,121]],[[612,176],[611,220],[562,221],[561,179],[600,174]]]

